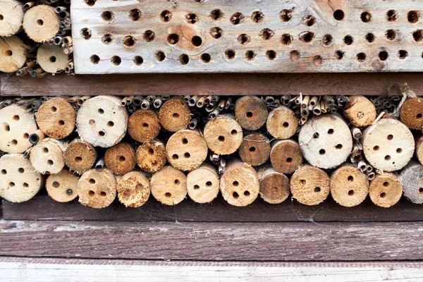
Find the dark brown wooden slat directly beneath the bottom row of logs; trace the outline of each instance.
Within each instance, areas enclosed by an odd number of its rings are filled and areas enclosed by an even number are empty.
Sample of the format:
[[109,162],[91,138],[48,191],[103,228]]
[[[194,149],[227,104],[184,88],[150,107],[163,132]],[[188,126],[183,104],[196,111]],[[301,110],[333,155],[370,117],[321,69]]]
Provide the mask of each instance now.
[[423,221],[422,205],[405,199],[395,206],[376,207],[369,199],[357,207],[341,207],[326,200],[307,207],[288,199],[282,204],[267,204],[261,199],[247,207],[233,207],[218,197],[211,204],[183,200],[176,206],[165,206],[150,198],[145,206],[133,209],[114,202],[106,209],[83,207],[78,202],[59,203],[38,196],[20,204],[3,201],[3,219],[61,221],[194,221],[194,222],[278,222],[278,221]]

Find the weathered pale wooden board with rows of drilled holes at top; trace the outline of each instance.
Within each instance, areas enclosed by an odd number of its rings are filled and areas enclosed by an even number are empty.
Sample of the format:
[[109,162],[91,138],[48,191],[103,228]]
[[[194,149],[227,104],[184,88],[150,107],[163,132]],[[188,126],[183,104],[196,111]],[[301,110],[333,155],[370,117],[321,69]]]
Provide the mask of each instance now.
[[75,0],[75,73],[422,71],[422,12],[412,0]]

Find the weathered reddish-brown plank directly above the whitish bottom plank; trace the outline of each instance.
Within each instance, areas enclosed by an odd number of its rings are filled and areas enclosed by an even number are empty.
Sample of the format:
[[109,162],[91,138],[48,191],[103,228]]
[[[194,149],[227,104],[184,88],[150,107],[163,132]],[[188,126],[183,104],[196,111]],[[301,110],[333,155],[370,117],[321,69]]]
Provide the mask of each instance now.
[[235,261],[421,260],[421,223],[0,221],[0,255]]

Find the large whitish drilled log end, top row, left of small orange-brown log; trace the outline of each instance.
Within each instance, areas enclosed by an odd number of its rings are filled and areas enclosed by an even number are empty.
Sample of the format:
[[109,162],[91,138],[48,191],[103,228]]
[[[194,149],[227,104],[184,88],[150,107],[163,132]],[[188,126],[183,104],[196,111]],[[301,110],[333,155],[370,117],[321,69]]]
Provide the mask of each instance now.
[[128,126],[128,113],[121,100],[111,96],[87,99],[78,110],[76,127],[81,139],[93,146],[111,147],[121,142]]

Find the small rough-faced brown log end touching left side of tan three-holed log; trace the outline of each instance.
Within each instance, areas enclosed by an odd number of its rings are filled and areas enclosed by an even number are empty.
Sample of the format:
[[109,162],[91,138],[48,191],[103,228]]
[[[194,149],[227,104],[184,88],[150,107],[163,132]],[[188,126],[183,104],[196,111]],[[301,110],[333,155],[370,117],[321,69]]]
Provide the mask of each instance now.
[[159,140],[152,140],[140,145],[136,153],[136,161],[143,171],[154,173],[166,164],[166,149]]

